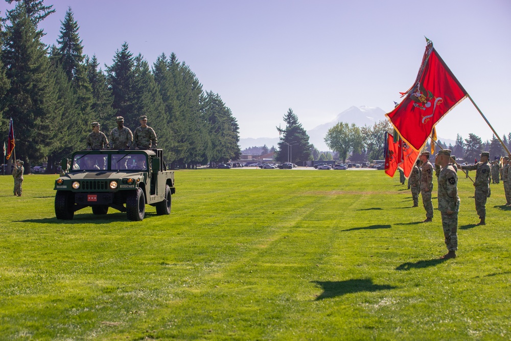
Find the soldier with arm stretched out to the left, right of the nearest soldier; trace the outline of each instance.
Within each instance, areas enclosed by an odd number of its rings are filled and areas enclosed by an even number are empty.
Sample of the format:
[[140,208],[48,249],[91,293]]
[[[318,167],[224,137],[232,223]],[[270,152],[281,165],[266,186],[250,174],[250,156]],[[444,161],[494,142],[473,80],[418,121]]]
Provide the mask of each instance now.
[[476,179],[474,181],[475,189],[475,200],[476,200],[476,211],[479,215],[479,219],[481,221],[478,225],[486,225],[486,198],[489,195],[490,191],[490,164],[488,163],[488,159],[490,158],[490,153],[487,151],[483,151],[481,153],[481,161],[472,166],[462,166],[463,170],[476,170]]

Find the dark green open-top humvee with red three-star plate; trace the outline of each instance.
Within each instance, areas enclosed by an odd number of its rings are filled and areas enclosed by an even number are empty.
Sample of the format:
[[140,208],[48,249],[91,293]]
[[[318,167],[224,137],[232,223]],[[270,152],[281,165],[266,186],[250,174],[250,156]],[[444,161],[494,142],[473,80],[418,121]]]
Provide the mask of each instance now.
[[76,211],[90,206],[94,214],[106,214],[111,207],[140,221],[146,203],[157,214],[170,214],[174,172],[167,170],[162,156],[162,149],[81,150],[71,160],[64,158],[66,172],[54,188],[57,219],[73,219]]

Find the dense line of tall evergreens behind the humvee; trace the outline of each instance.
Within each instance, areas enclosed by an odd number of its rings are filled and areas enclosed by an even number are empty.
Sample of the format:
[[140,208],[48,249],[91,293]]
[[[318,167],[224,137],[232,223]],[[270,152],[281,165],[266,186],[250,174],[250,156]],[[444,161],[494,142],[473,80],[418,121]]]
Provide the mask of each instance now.
[[239,126],[213,91],[204,91],[189,65],[162,53],[153,65],[134,55],[127,42],[103,71],[96,56],[83,54],[78,22],[69,8],[55,44],[47,46],[37,28],[55,12],[43,0],[16,2],[0,27],[0,129],[14,121],[16,157],[48,160],[48,172],[63,156],[85,148],[97,121],[107,136],[115,117],[132,131],[146,115],[158,148],[175,168],[226,162],[240,156]]

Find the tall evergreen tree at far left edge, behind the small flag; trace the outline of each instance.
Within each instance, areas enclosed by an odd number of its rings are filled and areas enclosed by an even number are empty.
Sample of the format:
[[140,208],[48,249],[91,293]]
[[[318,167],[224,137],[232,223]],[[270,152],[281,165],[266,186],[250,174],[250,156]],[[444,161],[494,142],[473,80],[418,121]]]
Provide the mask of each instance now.
[[11,87],[2,98],[5,117],[16,129],[16,156],[40,161],[52,150],[57,138],[57,94],[50,62],[24,3],[9,12],[2,62]]

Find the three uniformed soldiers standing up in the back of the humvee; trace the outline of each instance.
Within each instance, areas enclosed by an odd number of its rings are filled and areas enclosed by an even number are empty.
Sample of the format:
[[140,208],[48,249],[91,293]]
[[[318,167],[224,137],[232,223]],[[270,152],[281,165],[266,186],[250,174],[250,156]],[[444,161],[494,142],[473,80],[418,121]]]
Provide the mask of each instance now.
[[138,118],[141,126],[134,133],[124,126],[124,118],[118,116],[117,128],[110,132],[110,142],[106,135],[101,132],[100,124],[92,122],[92,132],[87,136],[86,145],[88,150],[96,149],[152,149],[156,148],[158,140],[153,128],[147,125],[147,116]]

